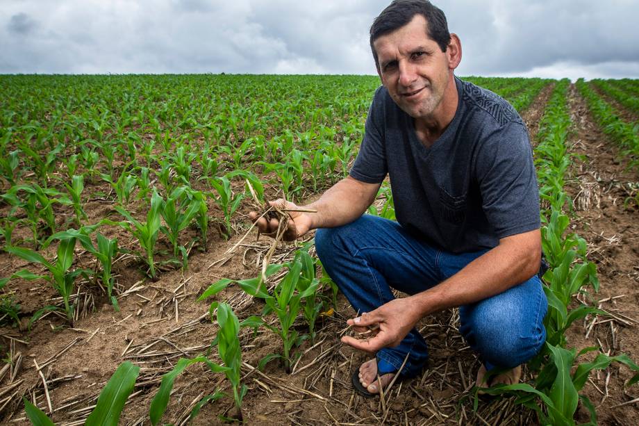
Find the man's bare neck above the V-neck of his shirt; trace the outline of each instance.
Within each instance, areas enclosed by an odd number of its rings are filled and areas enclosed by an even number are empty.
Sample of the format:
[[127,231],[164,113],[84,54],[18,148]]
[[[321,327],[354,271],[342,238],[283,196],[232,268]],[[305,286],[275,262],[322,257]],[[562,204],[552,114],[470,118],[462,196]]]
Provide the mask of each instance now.
[[415,133],[420,142],[430,148],[435,140],[438,140],[442,133],[447,129],[448,125],[453,121],[457,106],[459,104],[459,94],[457,92],[457,83],[455,77],[451,74],[451,79],[447,85],[446,92],[442,101],[433,114],[429,117],[415,118],[413,125]]

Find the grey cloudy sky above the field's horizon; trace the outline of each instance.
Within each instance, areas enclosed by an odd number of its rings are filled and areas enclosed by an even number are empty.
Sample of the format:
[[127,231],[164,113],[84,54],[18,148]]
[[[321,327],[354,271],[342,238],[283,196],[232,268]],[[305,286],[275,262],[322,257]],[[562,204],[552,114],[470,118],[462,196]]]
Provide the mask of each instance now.
[[[0,0],[0,73],[375,74],[388,0]],[[458,75],[639,78],[638,0],[439,0]]]

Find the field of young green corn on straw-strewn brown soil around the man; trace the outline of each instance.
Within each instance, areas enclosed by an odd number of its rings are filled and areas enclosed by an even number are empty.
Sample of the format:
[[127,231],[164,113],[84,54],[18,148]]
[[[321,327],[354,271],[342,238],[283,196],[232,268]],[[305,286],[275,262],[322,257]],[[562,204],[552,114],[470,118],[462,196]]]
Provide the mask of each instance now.
[[[0,76],[0,422],[636,424],[639,81],[465,80],[529,126],[547,345],[477,395],[444,311],[422,375],[367,400],[313,234],[248,213],[347,176],[379,79]],[[389,183],[367,214],[395,218]]]

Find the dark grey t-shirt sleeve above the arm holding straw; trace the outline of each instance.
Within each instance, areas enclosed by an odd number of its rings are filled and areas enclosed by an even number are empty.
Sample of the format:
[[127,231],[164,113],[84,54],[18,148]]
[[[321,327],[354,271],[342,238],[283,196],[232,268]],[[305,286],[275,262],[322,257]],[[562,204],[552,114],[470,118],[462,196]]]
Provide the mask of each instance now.
[[364,138],[350,175],[358,181],[381,183],[388,172],[384,144],[384,102],[382,88],[375,92],[364,127]]

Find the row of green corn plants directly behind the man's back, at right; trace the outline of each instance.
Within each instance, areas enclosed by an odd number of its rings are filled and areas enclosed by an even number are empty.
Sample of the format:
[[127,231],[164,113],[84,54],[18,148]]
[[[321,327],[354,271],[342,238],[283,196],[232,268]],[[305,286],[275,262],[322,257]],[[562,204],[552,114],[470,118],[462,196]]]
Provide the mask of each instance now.
[[[606,315],[594,306],[578,303],[575,296],[588,295],[599,288],[595,265],[586,259],[586,241],[570,231],[570,197],[564,179],[571,163],[567,151],[570,114],[566,104],[567,80],[560,81],[549,99],[537,134],[536,167],[542,199],[542,245],[549,269],[543,276],[549,310],[544,320],[547,341],[540,354],[529,362],[536,372],[533,383],[495,386],[489,393],[515,394],[517,403],[538,414],[542,425],[575,425],[579,402],[597,424],[595,406],[581,393],[592,370],[623,363],[636,374],[626,386],[639,381],[639,366],[625,354],[608,356],[599,347],[582,350],[570,347],[566,331],[574,321],[590,314]],[[581,361],[588,352],[597,352],[592,361]],[[592,358],[592,356],[591,356]]]

